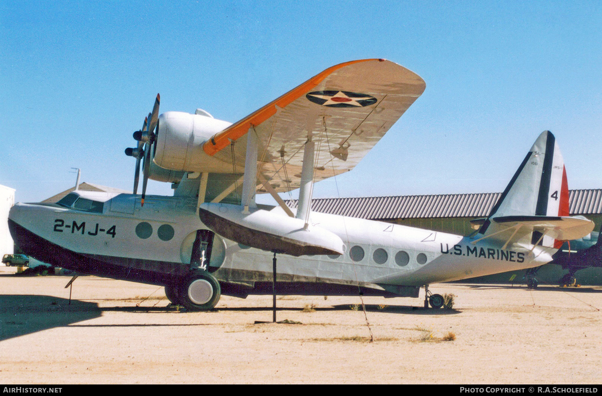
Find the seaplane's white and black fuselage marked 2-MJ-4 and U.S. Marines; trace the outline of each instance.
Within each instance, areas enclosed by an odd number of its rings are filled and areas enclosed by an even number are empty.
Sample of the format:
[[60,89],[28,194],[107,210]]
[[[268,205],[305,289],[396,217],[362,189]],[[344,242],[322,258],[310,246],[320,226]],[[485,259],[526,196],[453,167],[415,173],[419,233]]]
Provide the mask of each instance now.
[[[85,192],[81,195],[85,196]],[[194,270],[197,230],[206,229],[189,197],[119,194],[102,212],[55,204],[17,203],[11,234],[30,256],[59,267],[114,279],[169,285]],[[271,211],[282,211],[278,206]],[[343,255],[278,255],[279,294],[364,294],[417,297],[422,285],[545,264],[538,246],[500,249],[488,240],[383,221],[312,212],[311,223],[337,234]],[[208,270],[224,294],[271,293],[272,252],[213,237]],[[191,259],[192,258],[192,259]]]

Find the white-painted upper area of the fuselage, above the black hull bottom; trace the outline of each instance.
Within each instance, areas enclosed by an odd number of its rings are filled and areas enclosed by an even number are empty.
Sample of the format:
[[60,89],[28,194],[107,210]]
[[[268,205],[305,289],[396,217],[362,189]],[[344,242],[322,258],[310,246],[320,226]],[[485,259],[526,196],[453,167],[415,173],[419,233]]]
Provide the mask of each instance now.
[[[272,211],[282,209],[276,207]],[[141,207],[140,197],[130,194],[105,202],[103,214],[17,203],[11,209],[10,219],[46,241],[82,255],[173,264],[190,264],[196,230],[206,228],[196,214],[196,199],[148,196]],[[142,222],[152,227],[151,235],[144,239],[135,230]],[[474,244],[474,238],[382,221],[312,212],[310,223],[337,234],[345,243],[345,253],[338,257],[278,255],[279,279],[421,286],[531,268],[551,260],[551,250],[541,246],[533,252],[532,246],[519,244],[501,250],[498,243],[487,239]],[[170,240],[158,236],[157,230],[163,224],[173,227]],[[363,257],[354,255],[354,261],[350,253],[359,250],[356,246],[361,248]],[[404,262],[396,260],[396,255],[403,256],[399,252],[408,254],[407,264],[400,265]],[[253,273],[271,273],[272,255],[264,250],[244,249],[216,235],[211,266],[222,268],[216,273],[218,278],[231,269],[241,270],[247,273],[246,280],[253,280]]]

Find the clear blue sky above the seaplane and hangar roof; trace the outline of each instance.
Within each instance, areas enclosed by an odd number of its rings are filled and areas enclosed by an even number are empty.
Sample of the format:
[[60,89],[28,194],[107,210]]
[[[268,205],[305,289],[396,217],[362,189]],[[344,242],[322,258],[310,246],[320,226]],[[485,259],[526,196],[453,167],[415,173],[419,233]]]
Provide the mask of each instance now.
[[79,167],[131,190],[123,149],[157,93],[161,112],[235,122],[329,66],[386,58],[426,91],[314,197],[502,191],[545,129],[569,188],[602,188],[600,21],[595,1],[4,1],[0,184],[39,201]]

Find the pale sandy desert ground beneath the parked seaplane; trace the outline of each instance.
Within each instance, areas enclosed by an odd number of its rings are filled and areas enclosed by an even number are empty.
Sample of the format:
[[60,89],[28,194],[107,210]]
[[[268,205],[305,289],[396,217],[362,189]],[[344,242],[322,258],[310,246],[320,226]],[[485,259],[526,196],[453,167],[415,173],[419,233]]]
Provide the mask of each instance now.
[[163,288],[87,276],[69,305],[70,277],[0,268],[4,384],[602,383],[600,286],[431,285],[451,311],[364,297],[368,329],[359,297],[279,297],[294,323],[256,324],[272,296],[179,312]]

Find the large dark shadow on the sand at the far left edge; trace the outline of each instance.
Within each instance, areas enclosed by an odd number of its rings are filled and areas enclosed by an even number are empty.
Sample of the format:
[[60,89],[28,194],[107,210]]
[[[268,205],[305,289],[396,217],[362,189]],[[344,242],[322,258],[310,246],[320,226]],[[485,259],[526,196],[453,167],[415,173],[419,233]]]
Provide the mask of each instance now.
[[0,295],[0,341],[98,318],[96,303],[51,295]]

